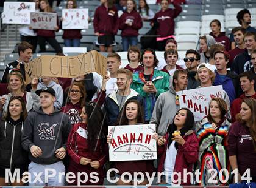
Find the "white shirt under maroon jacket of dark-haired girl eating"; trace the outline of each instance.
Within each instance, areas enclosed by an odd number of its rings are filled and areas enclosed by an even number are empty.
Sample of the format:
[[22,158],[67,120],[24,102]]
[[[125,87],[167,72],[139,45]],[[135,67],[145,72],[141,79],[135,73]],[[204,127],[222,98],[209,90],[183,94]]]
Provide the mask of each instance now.
[[175,166],[175,160],[177,155],[177,150],[174,146],[175,141],[172,141],[169,148],[166,150],[165,164],[163,169],[165,170],[165,175],[171,176]]

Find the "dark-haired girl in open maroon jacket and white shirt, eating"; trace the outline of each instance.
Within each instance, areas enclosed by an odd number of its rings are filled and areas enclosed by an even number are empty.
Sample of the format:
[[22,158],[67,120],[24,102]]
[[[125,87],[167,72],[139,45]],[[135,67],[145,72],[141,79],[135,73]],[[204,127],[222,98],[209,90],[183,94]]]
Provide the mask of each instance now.
[[[189,109],[182,108],[174,116],[166,135],[158,139],[158,172],[164,173],[160,184],[189,186],[193,182],[193,177],[187,174],[192,172],[193,164],[198,158],[199,143],[192,130],[193,126],[193,113]],[[187,176],[184,175],[185,170]],[[175,172],[180,173],[181,176],[177,176]]]

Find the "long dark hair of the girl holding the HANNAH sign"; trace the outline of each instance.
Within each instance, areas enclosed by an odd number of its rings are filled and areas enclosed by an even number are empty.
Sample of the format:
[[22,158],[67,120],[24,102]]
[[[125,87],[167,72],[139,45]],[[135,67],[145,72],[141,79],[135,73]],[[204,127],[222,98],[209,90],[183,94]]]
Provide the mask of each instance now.
[[141,107],[141,104],[137,100],[133,99],[133,100],[128,100],[126,104],[124,104],[123,108],[121,109],[118,115],[118,119],[116,120],[116,126],[129,124],[128,119],[126,117],[126,106],[127,104],[130,104],[130,103],[135,103],[137,104],[137,107],[138,107],[136,123],[144,123],[143,108]]

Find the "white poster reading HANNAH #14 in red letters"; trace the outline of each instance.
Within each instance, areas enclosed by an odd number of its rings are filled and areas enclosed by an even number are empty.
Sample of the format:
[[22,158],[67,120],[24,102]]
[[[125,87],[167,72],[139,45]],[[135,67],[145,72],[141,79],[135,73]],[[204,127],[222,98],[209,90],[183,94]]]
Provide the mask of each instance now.
[[157,159],[157,143],[152,139],[155,124],[108,126],[112,137],[110,161],[138,161]]

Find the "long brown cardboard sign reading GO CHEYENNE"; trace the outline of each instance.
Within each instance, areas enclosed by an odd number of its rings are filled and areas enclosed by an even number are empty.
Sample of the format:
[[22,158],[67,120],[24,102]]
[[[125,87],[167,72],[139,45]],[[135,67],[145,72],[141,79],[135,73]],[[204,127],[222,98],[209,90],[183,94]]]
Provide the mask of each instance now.
[[42,55],[25,64],[26,83],[41,76],[76,78],[91,72],[105,76],[107,58],[96,50],[77,56]]

